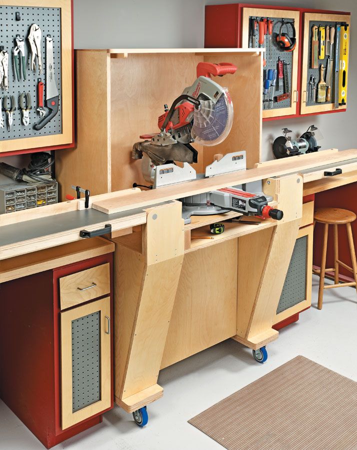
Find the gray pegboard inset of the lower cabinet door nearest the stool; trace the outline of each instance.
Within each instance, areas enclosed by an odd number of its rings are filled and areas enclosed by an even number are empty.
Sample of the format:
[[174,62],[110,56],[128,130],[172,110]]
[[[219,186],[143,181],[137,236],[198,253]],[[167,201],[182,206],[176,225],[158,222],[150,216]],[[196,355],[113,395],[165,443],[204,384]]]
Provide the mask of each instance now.
[[307,236],[296,239],[276,314],[305,300]]

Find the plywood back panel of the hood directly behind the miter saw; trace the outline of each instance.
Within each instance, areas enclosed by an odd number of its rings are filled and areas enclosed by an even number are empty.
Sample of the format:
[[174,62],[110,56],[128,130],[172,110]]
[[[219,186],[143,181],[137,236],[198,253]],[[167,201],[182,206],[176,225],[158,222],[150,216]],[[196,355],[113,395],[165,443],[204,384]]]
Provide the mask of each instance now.
[[[141,176],[141,160],[131,159],[139,135],[158,132],[157,118],[163,105],[171,105],[196,78],[196,65],[202,57],[195,53],[128,54],[111,58],[111,183],[112,190],[147,184]],[[202,147],[198,150],[202,171]]]

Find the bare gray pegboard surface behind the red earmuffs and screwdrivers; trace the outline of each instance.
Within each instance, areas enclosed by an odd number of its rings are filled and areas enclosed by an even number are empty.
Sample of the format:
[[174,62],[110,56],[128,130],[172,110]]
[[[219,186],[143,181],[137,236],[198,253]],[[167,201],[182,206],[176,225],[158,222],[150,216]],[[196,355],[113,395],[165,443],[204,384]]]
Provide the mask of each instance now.
[[[250,16],[251,17],[251,16]],[[249,17],[249,24],[250,24],[250,17]],[[265,17],[258,17],[257,20],[260,20],[260,18],[265,18]],[[285,21],[288,22],[293,22],[293,18],[289,18],[289,17],[284,17]],[[273,20],[273,27],[272,27],[272,34],[271,34],[271,53],[269,51],[269,37],[268,35],[265,36],[265,48],[266,48],[266,52],[265,52],[265,61],[266,61],[266,65],[264,67],[263,70],[263,85],[264,85],[264,81],[266,78],[266,74],[267,74],[267,70],[269,68],[271,69],[276,69],[277,70],[277,58],[280,57],[280,59],[284,60],[287,65],[287,77],[288,77],[288,83],[289,83],[289,92],[290,92],[290,98],[287,98],[286,100],[283,101],[273,101],[272,105],[270,102],[270,107],[268,107],[268,104],[265,102],[265,107],[263,104],[263,108],[264,109],[279,109],[279,108],[286,108],[286,107],[290,107],[291,106],[291,101],[292,101],[292,92],[291,92],[291,76],[292,76],[292,54],[293,51],[283,51],[280,50],[280,48],[277,46],[276,43],[276,36],[279,34],[280,32],[280,26],[281,26],[281,20],[276,18],[276,17],[267,17],[267,19]],[[249,25],[250,26],[250,25]],[[249,29],[250,31],[250,29]],[[291,30],[291,26],[290,25],[284,25],[282,32],[287,32],[289,34],[289,36],[292,35],[292,30]],[[253,46],[255,47],[259,47],[259,29],[258,26],[256,28],[256,35],[255,35],[255,42],[253,42],[253,45],[251,45],[251,38],[249,37],[249,47]],[[294,50],[295,51],[295,50]],[[278,88],[278,79],[276,78],[276,85],[275,85],[275,90],[274,90],[274,97],[276,95],[280,95],[282,93],[284,93],[284,85],[283,85],[283,80],[281,80],[281,87],[280,89]],[[270,97],[271,97],[271,93],[272,93],[272,88],[270,88]]]

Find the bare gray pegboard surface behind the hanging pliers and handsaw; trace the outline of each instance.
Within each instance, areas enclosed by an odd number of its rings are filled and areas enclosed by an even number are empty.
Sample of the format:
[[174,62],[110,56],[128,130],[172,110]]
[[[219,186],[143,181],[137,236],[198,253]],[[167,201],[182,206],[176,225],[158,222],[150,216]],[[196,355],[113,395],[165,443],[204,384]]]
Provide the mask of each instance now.
[[[20,13],[21,20],[15,20],[15,12]],[[50,134],[60,134],[62,132],[62,111],[61,111],[61,16],[60,8],[39,8],[27,6],[0,6],[0,45],[8,51],[8,91],[0,89],[1,105],[5,95],[13,95],[16,101],[16,110],[13,111],[13,123],[11,131],[7,130],[7,117],[4,111],[1,111],[4,121],[4,127],[0,128],[0,136],[3,140],[18,139],[33,136],[45,136]],[[30,46],[28,43],[28,33],[32,23],[39,25],[42,31],[41,38],[41,56],[42,73],[38,74],[37,59],[36,71],[30,70]],[[25,41],[26,57],[26,79],[17,81],[13,66],[13,47],[14,38],[19,34]],[[58,113],[42,129],[35,130],[33,125],[40,120],[37,108],[37,78],[41,78],[45,83],[45,37],[50,34],[53,37],[53,63],[57,89],[59,92]],[[21,92],[29,92],[31,96],[32,109],[29,112],[30,122],[24,126],[21,121],[21,110],[19,109],[19,96]],[[44,88],[45,100],[45,88]]]

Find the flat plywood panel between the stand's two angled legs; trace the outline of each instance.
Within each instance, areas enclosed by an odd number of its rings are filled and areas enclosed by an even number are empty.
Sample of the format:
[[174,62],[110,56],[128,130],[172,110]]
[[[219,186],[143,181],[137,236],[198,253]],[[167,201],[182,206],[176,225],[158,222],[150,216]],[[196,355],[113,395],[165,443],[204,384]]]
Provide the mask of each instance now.
[[185,254],[161,368],[235,334],[237,239]]

